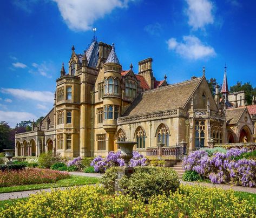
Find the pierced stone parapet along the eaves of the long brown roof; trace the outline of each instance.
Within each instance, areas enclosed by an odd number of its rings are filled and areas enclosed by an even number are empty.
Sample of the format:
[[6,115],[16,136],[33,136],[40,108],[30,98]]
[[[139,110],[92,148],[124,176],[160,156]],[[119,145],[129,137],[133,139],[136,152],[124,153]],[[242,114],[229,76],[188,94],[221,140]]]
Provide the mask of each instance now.
[[159,118],[166,118],[166,117],[176,117],[178,115],[178,110],[168,110],[162,112],[155,112],[149,114],[142,114],[142,115],[135,115],[130,117],[121,117],[117,119],[117,124],[126,124],[130,122],[136,122],[138,120],[155,120]]

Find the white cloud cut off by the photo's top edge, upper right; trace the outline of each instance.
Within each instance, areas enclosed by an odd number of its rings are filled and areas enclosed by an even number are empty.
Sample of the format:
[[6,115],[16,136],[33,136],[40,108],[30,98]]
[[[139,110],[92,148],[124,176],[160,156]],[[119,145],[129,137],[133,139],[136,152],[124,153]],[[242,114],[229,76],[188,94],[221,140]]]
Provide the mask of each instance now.
[[207,24],[213,24],[213,3],[209,0],[186,0],[188,9],[188,24],[194,30],[204,29]]

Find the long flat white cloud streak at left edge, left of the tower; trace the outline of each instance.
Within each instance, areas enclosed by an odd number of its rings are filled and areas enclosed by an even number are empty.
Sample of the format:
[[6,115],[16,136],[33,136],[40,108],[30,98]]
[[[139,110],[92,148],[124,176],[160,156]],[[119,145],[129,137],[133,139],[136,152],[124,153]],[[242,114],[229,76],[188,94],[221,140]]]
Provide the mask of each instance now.
[[17,97],[19,99],[32,99],[36,101],[53,103],[54,93],[48,91],[29,91],[19,88],[2,88],[2,93],[11,94],[11,96]]

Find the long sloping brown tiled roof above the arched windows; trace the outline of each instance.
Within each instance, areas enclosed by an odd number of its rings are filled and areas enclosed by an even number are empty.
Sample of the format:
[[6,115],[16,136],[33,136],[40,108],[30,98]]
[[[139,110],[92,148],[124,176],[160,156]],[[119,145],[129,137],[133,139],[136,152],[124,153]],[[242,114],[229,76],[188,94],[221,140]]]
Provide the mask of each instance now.
[[183,81],[179,84],[155,88],[139,94],[124,116],[153,113],[184,107],[187,100],[200,83],[201,78]]

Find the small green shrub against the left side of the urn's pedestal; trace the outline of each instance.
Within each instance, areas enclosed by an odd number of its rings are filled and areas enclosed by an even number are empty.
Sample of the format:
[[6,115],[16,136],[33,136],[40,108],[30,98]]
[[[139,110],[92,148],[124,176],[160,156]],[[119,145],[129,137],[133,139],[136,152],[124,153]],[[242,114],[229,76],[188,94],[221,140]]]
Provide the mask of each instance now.
[[117,172],[119,167],[110,167],[102,175],[100,183],[107,190],[108,193],[113,194],[115,191],[115,180],[117,179]]

